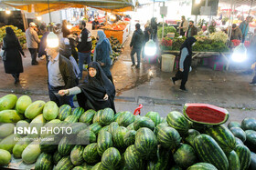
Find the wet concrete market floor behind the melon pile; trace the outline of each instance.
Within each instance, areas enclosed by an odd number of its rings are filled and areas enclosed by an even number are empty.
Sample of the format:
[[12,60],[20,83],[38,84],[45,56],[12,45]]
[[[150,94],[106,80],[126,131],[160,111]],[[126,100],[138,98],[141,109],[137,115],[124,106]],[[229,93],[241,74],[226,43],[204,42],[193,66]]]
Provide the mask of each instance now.
[[[197,66],[189,74],[188,92],[184,93],[178,90],[180,82],[173,85],[170,80],[175,73],[161,72],[159,64],[142,62],[140,69],[131,68],[129,44],[130,38],[111,70],[117,91],[117,111],[133,112],[143,104],[142,115],[157,111],[166,116],[173,110],[182,111],[186,103],[207,103],[227,108],[229,121],[241,122],[245,117],[256,117],[256,86],[249,85],[253,75]],[[30,65],[29,52],[25,50],[25,53],[27,58],[23,59],[24,73],[20,75],[19,85],[14,84],[12,75],[5,74],[0,60],[0,97],[15,93],[18,96],[30,95],[33,101],[48,101],[46,61],[38,59],[39,65]]]

